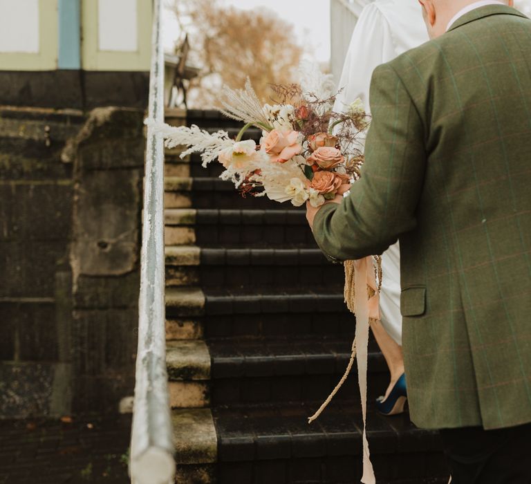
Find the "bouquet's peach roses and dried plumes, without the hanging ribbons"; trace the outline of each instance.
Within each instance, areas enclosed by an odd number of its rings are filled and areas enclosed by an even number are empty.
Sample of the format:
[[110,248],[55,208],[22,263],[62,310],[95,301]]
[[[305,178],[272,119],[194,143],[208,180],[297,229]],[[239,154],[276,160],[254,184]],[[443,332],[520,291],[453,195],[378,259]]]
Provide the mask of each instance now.
[[[272,86],[273,105],[262,104],[248,80],[243,90],[227,87],[221,111],[245,123],[231,139],[225,131],[208,133],[196,126],[157,127],[166,146],[188,147],[181,156],[200,152],[203,166],[223,165],[223,180],[232,180],[243,196],[267,196],[273,201],[313,207],[348,190],[363,162],[359,138],[369,125],[360,100],[344,113],[334,113],[333,82],[310,66],[300,84]],[[147,122],[149,124],[149,121]],[[259,145],[242,140],[250,127],[262,130]]]

